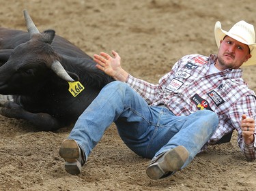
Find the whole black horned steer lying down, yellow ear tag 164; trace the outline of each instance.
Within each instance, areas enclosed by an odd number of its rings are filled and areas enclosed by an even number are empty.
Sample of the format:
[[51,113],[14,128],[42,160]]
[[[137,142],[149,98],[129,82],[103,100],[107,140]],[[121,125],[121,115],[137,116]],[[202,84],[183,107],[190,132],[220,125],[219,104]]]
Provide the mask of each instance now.
[[75,122],[113,78],[55,31],[40,33],[27,11],[24,16],[29,33],[0,28],[0,94],[14,95],[1,101],[0,114],[53,131]]

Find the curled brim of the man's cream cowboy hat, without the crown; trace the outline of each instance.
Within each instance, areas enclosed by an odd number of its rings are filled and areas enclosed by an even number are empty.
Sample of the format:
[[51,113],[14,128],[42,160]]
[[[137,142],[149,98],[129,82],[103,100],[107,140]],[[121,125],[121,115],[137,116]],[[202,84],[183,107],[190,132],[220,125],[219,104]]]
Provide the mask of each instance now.
[[238,35],[233,35],[232,33],[229,33],[227,31],[224,31],[223,29],[221,29],[221,22],[217,21],[214,27],[214,35],[215,35],[215,41],[216,44],[218,46],[218,48],[220,48],[221,46],[221,40],[223,40],[223,38],[228,35],[229,37],[236,39],[237,41],[240,41],[242,44],[246,44],[248,45],[248,47],[251,50],[251,58],[249,58],[246,63],[243,63],[242,66],[249,66],[249,65],[256,65],[256,44],[248,44],[246,41],[244,41],[244,39],[242,39],[241,37],[238,37]]

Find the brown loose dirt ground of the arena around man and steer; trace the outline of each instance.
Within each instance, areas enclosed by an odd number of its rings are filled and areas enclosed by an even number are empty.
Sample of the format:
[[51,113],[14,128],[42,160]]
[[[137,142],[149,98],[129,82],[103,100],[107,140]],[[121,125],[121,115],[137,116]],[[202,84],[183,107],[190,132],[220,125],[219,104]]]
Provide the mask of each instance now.
[[[185,54],[216,53],[214,24],[229,30],[246,20],[256,26],[252,0],[0,0],[0,26],[26,30],[23,10],[40,31],[54,29],[90,56],[116,50],[132,75],[156,83]],[[256,67],[244,79],[256,90]],[[66,173],[59,145],[72,126],[38,132],[24,120],[0,116],[0,190],[256,190],[256,163],[230,143],[210,146],[186,169],[153,181],[149,160],[131,152],[112,125],[81,175]]]

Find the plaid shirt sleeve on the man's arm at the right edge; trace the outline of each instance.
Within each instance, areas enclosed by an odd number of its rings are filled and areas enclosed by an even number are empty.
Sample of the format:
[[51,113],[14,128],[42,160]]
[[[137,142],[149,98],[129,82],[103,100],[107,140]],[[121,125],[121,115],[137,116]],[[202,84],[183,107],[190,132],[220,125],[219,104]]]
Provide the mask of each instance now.
[[240,122],[242,120],[242,114],[246,114],[248,118],[254,118],[254,120],[256,120],[255,108],[255,96],[249,95],[240,99],[236,105],[232,107],[231,112],[229,112],[229,119],[231,119],[231,124],[238,131],[238,146],[240,147],[247,160],[255,160],[256,158],[256,140],[254,140],[254,143],[251,144],[244,143]]

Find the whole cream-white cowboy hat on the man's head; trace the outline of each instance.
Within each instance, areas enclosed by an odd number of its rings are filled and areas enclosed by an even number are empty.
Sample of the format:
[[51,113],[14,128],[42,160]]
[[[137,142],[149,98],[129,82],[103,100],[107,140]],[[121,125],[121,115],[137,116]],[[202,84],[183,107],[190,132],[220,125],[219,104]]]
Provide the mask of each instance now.
[[252,24],[248,24],[244,20],[241,20],[234,24],[227,32],[221,29],[221,22],[217,21],[214,27],[214,35],[218,48],[220,48],[220,41],[223,40],[225,35],[248,45],[251,51],[251,58],[249,58],[243,66],[256,65],[255,31]]

